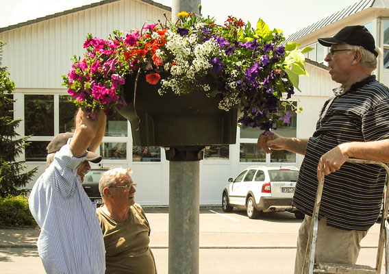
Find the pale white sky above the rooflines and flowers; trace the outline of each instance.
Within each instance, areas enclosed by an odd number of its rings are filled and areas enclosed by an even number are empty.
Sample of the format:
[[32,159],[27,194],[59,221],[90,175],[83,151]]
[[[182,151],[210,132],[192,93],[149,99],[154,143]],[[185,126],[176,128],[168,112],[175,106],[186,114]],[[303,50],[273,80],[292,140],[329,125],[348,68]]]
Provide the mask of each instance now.
[[[172,0],[154,0],[171,6]],[[203,16],[223,23],[233,15],[255,25],[261,18],[271,29],[284,30],[285,36],[308,27],[358,0],[202,0]],[[42,16],[99,2],[97,0],[0,0],[0,27],[7,27]]]

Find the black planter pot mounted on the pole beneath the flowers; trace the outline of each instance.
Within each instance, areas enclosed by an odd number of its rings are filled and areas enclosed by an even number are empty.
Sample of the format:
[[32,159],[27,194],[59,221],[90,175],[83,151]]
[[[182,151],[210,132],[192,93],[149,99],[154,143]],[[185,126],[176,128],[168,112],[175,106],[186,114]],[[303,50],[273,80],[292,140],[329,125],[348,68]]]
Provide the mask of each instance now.
[[[159,84],[146,82],[140,73],[134,101],[135,75],[125,79],[125,107],[118,112],[131,123],[137,146],[205,146],[236,142],[238,107],[226,112],[218,99],[203,92],[177,96],[158,94]],[[135,106],[135,108],[134,108]]]

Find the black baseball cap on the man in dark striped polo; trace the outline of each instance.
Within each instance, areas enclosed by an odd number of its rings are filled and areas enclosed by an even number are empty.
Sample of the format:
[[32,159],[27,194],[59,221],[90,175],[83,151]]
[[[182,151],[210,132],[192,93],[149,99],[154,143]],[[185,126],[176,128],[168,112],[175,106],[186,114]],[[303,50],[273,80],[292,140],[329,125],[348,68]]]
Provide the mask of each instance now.
[[344,27],[334,37],[318,38],[318,42],[325,47],[342,43],[360,46],[378,56],[373,35],[362,25]]

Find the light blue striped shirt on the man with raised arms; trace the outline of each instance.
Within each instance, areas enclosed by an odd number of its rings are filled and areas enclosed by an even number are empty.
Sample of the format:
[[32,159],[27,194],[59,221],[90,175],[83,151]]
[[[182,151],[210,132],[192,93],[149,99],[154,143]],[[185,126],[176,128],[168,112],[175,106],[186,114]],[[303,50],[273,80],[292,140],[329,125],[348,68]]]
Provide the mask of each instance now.
[[[69,139],[70,140],[70,139]],[[38,253],[47,273],[105,273],[103,234],[96,205],[81,186],[68,144],[55,153],[29,196],[29,210],[40,226]]]

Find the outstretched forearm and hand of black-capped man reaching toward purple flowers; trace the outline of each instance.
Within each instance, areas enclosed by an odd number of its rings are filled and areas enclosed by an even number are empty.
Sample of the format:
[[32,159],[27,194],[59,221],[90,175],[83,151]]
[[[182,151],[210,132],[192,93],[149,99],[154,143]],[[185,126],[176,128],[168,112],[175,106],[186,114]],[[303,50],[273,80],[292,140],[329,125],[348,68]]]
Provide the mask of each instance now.
[[299,153],[305,155],[305,149],[307,149],[308,138],[287,138],[280,136],[273,132],[273,135],[261,134],[258,137],[258,148],[263,149],[266,153],[272,153],[274,150],[287,150],[293,153]]

